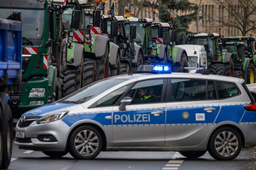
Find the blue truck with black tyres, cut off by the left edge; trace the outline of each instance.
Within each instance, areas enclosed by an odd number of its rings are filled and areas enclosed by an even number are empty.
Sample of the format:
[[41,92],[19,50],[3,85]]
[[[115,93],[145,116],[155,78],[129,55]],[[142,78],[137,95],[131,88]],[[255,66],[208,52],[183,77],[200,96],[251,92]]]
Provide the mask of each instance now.
[[20,11],[0,18],[0,169],[11,162],[13,119],[9,93],[21,82],[22,36]]

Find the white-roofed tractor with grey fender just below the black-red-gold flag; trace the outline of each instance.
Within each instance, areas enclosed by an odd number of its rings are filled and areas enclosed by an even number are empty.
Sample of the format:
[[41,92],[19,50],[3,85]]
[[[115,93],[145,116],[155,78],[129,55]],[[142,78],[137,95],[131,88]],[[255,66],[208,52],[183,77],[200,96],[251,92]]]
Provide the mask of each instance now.
[[[143,64],[143,51],[141,46],[134,43],[136,38],[136,26],[132,25],[129,20],[125,20],[123,16],[105,16],[105,24],[103,24],[103,32],[111,32],[119,29],[123,35],[123,39],[119,39],[117,34],[109,34],[110,41],[117,44],[121,50],[120,74],[136,73],[139,65]],[[104,29],[106,28],[106,29]]]

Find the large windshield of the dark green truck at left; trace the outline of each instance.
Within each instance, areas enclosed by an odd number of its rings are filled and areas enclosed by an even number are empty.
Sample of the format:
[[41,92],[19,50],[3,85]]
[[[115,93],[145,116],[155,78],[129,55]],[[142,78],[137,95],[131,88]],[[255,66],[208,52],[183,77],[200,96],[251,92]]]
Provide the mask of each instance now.
[[[17,9],[15,9],[17,10]],[[30,46],[33,43],[34,46],[39,46],[42,43],[43,27],[44,27],[44,9],[27,10],[19,9],[22,17],[22,44],[24,46]],[[7,18],[12,14],[14,9],[0,8],[0,18]]]

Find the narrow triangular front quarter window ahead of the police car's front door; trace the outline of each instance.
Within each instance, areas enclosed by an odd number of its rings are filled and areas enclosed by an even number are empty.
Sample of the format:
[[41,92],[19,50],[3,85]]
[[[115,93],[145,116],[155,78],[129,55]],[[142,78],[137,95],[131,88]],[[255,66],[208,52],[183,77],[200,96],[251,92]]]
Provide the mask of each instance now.
[[124,86],[109,93],[108,95],[98,100],[97,106],[114,105],[129,87],[130,86]]

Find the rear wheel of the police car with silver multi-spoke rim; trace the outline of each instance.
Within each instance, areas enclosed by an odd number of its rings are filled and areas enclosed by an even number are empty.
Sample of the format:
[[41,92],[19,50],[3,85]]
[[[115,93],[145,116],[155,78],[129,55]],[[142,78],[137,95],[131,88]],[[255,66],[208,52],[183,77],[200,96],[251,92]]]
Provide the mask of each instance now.
[[208,143],[208,151],[216,160],[235,159],[241,149],[242,137],[231,127],[222,127],[214,131]]

